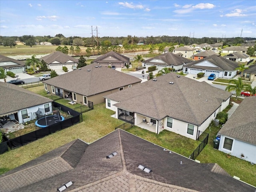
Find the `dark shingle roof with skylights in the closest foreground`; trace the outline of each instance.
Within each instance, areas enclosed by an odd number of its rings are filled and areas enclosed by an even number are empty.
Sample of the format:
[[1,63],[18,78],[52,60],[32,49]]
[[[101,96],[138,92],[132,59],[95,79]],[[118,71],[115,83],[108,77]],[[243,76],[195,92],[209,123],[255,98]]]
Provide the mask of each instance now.
[[0,176],[3,192],[254,192],[215,163],[198,163],[124,130],[76,139]]

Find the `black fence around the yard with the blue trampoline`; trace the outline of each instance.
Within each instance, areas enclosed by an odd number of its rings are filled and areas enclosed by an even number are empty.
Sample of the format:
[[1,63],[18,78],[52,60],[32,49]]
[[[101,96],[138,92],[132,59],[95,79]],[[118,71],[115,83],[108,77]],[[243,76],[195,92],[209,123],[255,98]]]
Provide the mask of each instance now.
[[28,143],[31,143],[35,140],[43,138],[43,137],[45,137],[49,134],[52,134],[56,131],[66,129],[66,128],[80,122],[80,113],[79,112],[72,110],[72,109],[70,109],[64,105],[61,105],[59,103],[56,103],[56,102],[52,102],[52,106],[61,107],[62,111],[70,114],[72,117],[68,118],[64,121],[58,122],[56,124],[47,126],[45,128],[40,128],[39,130],[35,130],[35,131],[27,133],[25,135],[16,137],[14,139],[11,139],[11,140],[7,139],[6,141],[0,143],[0,154],[3,154],[4,152],[6,152],[8,150],[12,150],[12,149],[18,148],[20,146],[24,146]]

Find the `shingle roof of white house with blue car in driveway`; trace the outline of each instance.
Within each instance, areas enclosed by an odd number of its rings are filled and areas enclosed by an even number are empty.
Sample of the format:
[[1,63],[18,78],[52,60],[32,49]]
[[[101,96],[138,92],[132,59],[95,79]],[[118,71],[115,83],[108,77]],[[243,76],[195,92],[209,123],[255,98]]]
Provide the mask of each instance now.
[[[204,61],[208,61],[208,62],[216,65],[217,67],[208,67],[208,66],[196,65],[196,64],[204,62]],[[238,65],[239,64],[237,62],[228,60],[226,58],[223,58],[219,55],[214,54],[214,55],[208,56],[206,58],[191,62],[191,63],[187,64],[186,67],[198,68],[198,69],[209,69],[209,70],[214,69],[214,70],[220,70],[220,71],[223,71],[223,70],[234,71],[235,68],[238,67]]]

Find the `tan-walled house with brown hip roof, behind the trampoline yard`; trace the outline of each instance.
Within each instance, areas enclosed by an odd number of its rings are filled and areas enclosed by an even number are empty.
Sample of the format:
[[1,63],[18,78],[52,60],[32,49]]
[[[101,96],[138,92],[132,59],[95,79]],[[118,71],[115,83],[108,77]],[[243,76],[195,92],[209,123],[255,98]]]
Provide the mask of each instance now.
[[90,64],[44,82],[46,91],[88,105],[105,102],[103,96],[140,84],[142,80],[108,67]]

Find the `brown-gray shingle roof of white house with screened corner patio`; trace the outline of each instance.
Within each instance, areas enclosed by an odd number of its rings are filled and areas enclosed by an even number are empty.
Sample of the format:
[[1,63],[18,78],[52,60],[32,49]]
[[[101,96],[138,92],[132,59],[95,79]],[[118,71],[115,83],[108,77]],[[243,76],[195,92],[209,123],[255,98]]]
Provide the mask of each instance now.
[[[114,106],[157,120],[166,116],[201,125],[232,93],[184,76],[168,73],[138,86],[105,96]],[[169,84],[174,82],[174,84]],[[141,101],[146,101],[141,103]]]

